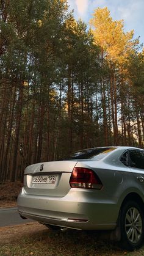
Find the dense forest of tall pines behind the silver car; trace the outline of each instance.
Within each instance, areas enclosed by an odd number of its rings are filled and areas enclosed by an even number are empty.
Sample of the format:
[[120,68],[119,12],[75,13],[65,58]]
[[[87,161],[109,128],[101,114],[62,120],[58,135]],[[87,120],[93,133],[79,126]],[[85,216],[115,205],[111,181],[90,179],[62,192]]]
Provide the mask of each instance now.
[[90,25],[66,0],[1,0],[1,183],[82,148],[143,148],[143,46],[107,7]]

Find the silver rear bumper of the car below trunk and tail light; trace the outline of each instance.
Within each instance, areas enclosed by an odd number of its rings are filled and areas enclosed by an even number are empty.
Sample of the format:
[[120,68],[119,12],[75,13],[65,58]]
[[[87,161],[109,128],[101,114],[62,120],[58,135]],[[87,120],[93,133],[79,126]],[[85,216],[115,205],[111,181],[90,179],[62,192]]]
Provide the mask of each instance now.
[[[75,190],[75,189],[74,189]],[[117,225],[117,205],[100,202],[73,189],[65,197],[29,195],[22,189],[18,196],[21,216],[43,224],[82,230],[112,230]]]

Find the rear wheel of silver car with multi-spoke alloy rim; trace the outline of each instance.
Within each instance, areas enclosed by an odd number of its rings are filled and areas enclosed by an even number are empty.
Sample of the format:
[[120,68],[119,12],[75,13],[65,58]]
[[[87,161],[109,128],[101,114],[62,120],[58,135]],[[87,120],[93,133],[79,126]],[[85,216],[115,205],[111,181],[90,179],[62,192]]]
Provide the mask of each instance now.
[[144,238],[144,218],[142,208],[133,201],[121,208],[121,246],[130,251],[142,246]]

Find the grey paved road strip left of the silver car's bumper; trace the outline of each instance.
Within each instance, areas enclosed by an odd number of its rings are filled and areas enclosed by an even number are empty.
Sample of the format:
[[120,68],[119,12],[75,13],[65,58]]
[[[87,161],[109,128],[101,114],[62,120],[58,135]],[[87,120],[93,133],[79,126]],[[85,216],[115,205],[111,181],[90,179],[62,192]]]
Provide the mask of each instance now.
[[17,207],[0,208],[0,227],[32,222],[30,219],[21,219],[17,209]]

